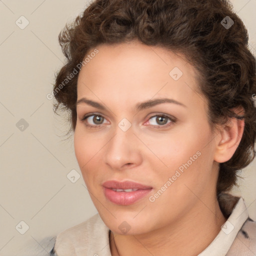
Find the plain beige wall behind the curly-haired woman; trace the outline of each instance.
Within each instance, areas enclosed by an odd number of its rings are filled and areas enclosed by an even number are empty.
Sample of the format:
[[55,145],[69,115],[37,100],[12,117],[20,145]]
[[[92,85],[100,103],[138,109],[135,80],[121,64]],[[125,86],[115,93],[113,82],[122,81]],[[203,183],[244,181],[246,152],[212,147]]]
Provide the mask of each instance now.
[[[57,36],[85,0],[0,0],[0,255],[47,255],[41,241],[97,211],[76,162],[65,122],[52,111],[54,72],[64,57]],[[256,0],[232,0],[255,54]],[[24,16],[24,17],[20,17]],[[26,27],[26,22],[29,22]],[[23,29],[21,29],[23,28]],[[20,120],[21,119],[21,120]],[[233,193],[256,219],[255,160]],[[68,179],[70,176],[75,176]],[[76,180],[77,179],[77,180]],[[24,221],[24,222],[20,222]],[[28,229],[27,229],[28,228]],[[27,229],[27,230],[26,230]],[[22,232],[26,231],[24,234]],[[25,253],[26,246],[40,249]],[[23,248],[24,251],[22,251]],[[18,251],[18,252],[17,252]]]

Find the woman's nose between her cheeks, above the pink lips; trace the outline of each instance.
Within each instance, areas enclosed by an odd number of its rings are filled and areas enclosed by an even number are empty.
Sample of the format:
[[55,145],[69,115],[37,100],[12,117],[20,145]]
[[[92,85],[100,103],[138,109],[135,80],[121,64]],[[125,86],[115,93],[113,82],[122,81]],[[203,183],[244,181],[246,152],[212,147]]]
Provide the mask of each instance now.
[[104,161],[111,169],[121,170],[142,162],[141,147],[132,127],[123,131],[117,126],[104,152]]

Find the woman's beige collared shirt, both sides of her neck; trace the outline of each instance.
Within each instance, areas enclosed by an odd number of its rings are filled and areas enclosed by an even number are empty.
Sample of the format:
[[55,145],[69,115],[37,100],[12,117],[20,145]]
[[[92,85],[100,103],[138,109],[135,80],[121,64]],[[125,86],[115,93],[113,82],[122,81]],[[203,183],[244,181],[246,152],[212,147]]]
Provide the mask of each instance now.
[[[214,240],[198,256],[256,256],[256,222],[248,216],[242,197],[218,196],[227,220]],[[56,236],[52,256],[111,256],[109,228],[99,214]]]

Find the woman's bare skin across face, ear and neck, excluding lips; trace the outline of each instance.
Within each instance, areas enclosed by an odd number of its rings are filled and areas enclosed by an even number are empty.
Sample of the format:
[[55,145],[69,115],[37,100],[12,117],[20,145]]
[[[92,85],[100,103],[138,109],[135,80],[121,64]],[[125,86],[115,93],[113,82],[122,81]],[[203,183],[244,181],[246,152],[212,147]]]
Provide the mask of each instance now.
[[[198,74],[181,54],[138,41],[96,48],[98,53],[78,76],[74,149],[91,199],[112,231],[111,253],[197,255],[226,221],[216,198],[218,165],[233,155],[244,121],[230,119],[225,126],[210,129]],[[169,75],[174,67],[183,73],[177,80]],[[135,109],[136,104],[156,98],[181,104]],[[86,114],[92,116],[83,119]],[[126,131],[118,126],[123,118],[131,123]],[[200,156],[150,201],[149,196],[197,151]],[[133,204],[117,205],[104,196],[102,187],[113,179],[149,185],[152,190]],[[127,233],[118,228],[123,221],[130,228]]]

